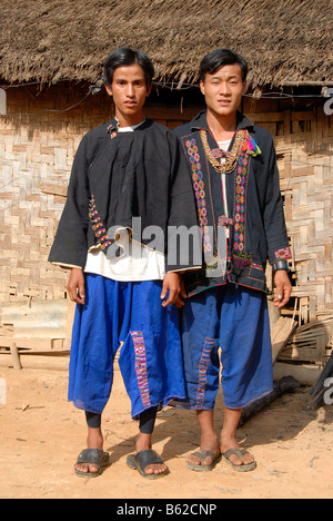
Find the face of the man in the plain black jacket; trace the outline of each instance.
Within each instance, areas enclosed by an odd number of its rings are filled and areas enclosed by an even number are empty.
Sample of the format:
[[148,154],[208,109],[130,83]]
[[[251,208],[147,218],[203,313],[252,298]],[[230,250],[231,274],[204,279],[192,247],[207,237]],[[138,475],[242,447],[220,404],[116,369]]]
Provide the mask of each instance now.
[[121,125],[135,125],[142,120],[142,107],[151,89],[148,89],[145,76],[138,63],[118,67],[113,72],[112,85],[105,86],[113,97],[115,115]]

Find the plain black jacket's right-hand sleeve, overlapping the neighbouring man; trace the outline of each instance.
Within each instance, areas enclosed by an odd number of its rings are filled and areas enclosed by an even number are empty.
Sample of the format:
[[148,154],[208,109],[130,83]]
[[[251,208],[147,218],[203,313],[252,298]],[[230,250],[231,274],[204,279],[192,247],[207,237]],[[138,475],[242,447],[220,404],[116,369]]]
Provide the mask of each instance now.
[[167,272],[199,269],[202,266],[202,238],[192,181],[179,138],[170,132],[169,139],[172,161]]

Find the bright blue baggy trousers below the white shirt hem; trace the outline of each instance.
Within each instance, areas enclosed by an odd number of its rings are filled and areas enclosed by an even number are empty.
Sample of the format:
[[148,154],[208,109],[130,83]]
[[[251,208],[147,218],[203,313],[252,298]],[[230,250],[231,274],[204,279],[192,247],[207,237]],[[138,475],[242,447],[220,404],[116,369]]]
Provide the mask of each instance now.
[[118,352],[133,419],[185,396],[176,307],[161,306],[161,281],[121,283],[85,274],[85,305],[77,306],[70,358],[68,397],[77,407],[103,412]]

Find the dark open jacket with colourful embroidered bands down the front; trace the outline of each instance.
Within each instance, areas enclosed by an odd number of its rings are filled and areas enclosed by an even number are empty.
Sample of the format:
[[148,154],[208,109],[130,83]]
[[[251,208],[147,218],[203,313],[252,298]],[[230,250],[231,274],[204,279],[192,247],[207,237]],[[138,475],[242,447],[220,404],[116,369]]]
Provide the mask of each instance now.
[[[269,292],[265,279],[266,263],[274,264],[291,258],[273,139],[269,131],[253,125],[238,112],[236,130],[241,129],[246,130],[251,147],[254,142],[254,147],[256,145],[259,148],[256,154],[252,155],[242,151],[234,168],[226,173],[228,216],[224,212],[221,173],[213,167],[208,157],[208,154],[219,149],[219,146],[209,130],[206,112],[200,112],[190,124],[174,129],[188,158],[199,222],[202,236],[205,237],[205,264],[209,248],[213,258],[219,258],[219,225],[229,227],[226,273],[222,276],[208,276],[209,269],[203,265],[201,271],[185,274],[185,286],[190,296],[228,281]],[[232,150],[235,139],[238,138],[234,137],[230,144],[229,151]],[[211,237],[205,233],[208,228],[204,226],[213,230]]]

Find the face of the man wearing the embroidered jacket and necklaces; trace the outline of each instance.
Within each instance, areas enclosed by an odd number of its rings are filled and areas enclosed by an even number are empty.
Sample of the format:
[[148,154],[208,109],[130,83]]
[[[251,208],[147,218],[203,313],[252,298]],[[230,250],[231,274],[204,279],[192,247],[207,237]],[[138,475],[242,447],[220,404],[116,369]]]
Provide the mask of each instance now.
[[235,63],[223,66],[213,75],[206,73],[205,81],[200,81],[200,88],[208,109],[218,117],[228,117],[240,107],[246,81],[242,80],[241,67]]

